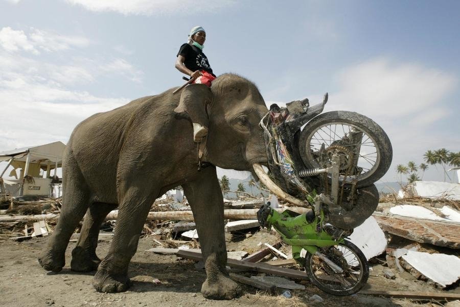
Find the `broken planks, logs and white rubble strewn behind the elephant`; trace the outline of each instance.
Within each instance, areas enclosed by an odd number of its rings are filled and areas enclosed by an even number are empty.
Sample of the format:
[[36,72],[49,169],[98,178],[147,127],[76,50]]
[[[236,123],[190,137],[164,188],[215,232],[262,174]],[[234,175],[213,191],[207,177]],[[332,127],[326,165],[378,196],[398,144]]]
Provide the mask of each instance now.
[[[385,200],[387,202],[380,203],[373,216],[355,228],[349,237],[363,251],[371,267],[370,287],[360,294],[415,299],[436,297],[438,300],[460,298],[455,289],[460,278],[459,201],[420,197]],[[0,239],[21,241],[47,236],[56,225],[60,203],[60,198],[4,200]],[[231,278],[240,283],[288,299],[310,283],[304,269],[292,259],[290,246],[284,244],[274,230],[260,228],[256,214],[263,204],[262,198],[225,200],[228,270]],[[26,206],[38,211],[26,213],[23,209]],[[280,212],[286,209],[283,202],[278,207],[275,210]],[[304,213],[308,209],[289,207],[289,210]],[[117,210],[109,213],[101,226],[99,240],[111,240],[117,216]],[[78,239],[79,231],[78,228],[71,241]],[[196,261],[197,269],[204,268],[193,214],[183,195],[175,193],[157,199],[142,236],[152,241],[149,252],[175,254],[184,261]],[[376,278],[383,279],[377,281]],[[378,284],[382,280],[394,291],[381,291]],[[422,282],[433,292],[401,291],[398,285],[402,280]],[[313,301],[319,302],[321,297],[312,296]]]

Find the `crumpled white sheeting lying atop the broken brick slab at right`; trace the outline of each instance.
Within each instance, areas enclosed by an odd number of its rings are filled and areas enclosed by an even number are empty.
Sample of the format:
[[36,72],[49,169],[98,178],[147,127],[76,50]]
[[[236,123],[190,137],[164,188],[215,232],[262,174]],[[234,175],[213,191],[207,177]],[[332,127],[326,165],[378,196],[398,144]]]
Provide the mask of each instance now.
[[449,206],[444,206],[441,209],[441,212],[446,215],[446,217],[440,217],[435,214],[433,211],[420,206],[414,206],[412,204],[401,204],[390,208],[390,213],[408,216],[420,219],[428,219],[433,221],[444,221],[444,222],[458,222],[460,223],[460,213]]

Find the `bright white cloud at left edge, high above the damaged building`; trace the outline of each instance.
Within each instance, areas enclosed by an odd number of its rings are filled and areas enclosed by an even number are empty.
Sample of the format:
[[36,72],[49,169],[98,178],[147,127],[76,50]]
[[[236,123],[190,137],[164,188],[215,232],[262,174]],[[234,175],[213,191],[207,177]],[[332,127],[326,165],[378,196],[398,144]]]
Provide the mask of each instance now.
[[86,47],[89,45],[89,40],[81,36],[64,36],[34,28],[26,34],[22,30],[5,27],[0,30],[0,45],[8,52],[22,49],[38,55],[39,50],[57,52],[73,47]]

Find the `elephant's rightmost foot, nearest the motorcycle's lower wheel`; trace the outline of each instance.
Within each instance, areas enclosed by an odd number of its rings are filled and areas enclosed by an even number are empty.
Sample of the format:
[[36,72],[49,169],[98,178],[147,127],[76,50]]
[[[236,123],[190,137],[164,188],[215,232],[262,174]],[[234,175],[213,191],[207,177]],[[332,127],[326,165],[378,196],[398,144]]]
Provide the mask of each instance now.
[[217,278],[206,278],[201,286],[201,294],[208,299],[233,299],[243,293],[241,287],[224,275]]

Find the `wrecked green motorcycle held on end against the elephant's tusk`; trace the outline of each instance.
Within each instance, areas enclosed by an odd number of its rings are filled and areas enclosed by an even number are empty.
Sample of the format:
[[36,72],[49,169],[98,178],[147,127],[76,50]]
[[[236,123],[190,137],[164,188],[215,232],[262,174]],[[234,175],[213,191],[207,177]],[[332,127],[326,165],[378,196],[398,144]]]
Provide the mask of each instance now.
[[272,105],[261,120],[270,175],[260,165],[256,174],[274,194],[312,211],[280,214],[266,204],[258,219],[292,246],[294,260],[319,289],[350,295],[365,285],[369,266],[346,238],[377,208],[374,182],[388,170],[393,151],[372,119],[348,111],[320,114],[327,100],[328,94],[313,107],[308,99]]

